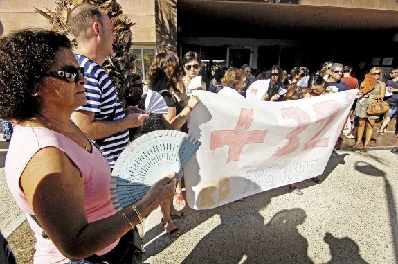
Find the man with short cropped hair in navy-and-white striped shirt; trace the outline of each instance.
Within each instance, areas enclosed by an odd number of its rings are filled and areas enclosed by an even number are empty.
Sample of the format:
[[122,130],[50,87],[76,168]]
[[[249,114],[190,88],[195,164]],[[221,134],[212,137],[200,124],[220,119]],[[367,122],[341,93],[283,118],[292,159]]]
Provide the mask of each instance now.
[[78,49],[75,51],[80,67],[87,78],[87,104],[72,114],[73,121],[97,143],[109,166],[129,140],[129,128],[142,125],[148,114],[136,107],[123,110],[116,89],[105,69],[100,65],[113,53],[114,28],[107,14],[89,4],[75,8],[68,19],[75,35]]

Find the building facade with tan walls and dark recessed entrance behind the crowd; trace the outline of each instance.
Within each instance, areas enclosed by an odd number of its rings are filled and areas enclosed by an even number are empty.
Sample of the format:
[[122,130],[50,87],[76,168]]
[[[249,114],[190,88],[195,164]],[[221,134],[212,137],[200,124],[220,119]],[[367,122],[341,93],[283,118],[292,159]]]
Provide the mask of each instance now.
[[[302,65],[315,72],[332,60],[350,64],[361,78],[370,67],[387,73],[398,64],[397,0],[117,2],[135,23],[132,53],[144,79],[154,55],[166,50],[180,57],[197,51],[207,69],[250,64],[262,71],[279,64],[287,71]],[[26,26],[48,27],[34,7],[55,10],[55,1],[0,1],[5,34]]]

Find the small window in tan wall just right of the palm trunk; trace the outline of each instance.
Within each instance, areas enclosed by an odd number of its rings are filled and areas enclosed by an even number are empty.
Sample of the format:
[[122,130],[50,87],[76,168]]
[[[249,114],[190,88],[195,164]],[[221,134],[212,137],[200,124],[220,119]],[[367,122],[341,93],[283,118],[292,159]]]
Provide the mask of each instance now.
[[155,48],[133,46],[132,53],[137,58],[134,73],[139,74],[141,79],[146,82],[148,70],[156,55]]

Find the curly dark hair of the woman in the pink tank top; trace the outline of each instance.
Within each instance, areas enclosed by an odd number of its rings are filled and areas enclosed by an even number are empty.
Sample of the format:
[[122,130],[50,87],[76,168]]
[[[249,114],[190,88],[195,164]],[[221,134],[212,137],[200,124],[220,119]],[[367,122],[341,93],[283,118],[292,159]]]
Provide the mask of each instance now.
[[24,120],[41,107],[39,82],[69,39],[54,31],[24,29],[0,38],[0,116]]

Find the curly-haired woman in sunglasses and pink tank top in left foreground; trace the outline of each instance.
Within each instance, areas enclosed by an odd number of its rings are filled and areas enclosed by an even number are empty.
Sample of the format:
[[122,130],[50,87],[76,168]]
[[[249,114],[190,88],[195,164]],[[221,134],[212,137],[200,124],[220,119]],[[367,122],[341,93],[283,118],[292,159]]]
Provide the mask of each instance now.
[[135,226],[172,199],[174,173],[116,212],[109,164],[71,121],[87,102],[83,72],[60,33],[26,29],[0,39],[0,112],[16,123],[7,184],[35,233],[34,263],[141,263]]

